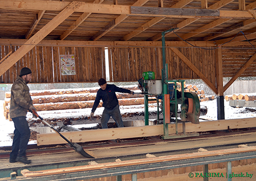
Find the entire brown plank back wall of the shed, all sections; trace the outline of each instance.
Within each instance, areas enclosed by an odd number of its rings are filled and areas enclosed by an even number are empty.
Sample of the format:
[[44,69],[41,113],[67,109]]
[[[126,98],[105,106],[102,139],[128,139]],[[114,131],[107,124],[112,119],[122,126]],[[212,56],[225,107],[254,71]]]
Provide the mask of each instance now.
[[[0,46],[0,59],[19,46]],[[215,51],[194,47],[177,48],[215,85]],[[256,53],[254,49],[222,48],[223,75],[232,77]],[[61,75],[59,55],[74,54],[76,75]],[[154,71],[161,79],[162,49],[156,47],[108,48],[110,81],[137,81],[142,72]],[[199,77],[166,48],[169,79]],[[32,70],[33,83],[97,82],[106,77],[105,52],[102,47],[36,46],[0,76],[1,83],[13,83],[21,68]],[[256,76],[256,61],[242,76]]]

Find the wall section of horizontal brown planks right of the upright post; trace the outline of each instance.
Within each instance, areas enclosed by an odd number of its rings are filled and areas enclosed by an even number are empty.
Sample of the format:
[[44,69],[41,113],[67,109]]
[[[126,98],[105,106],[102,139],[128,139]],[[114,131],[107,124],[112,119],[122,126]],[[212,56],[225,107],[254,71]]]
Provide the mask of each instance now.
[[[253,48],[222,48],[223,77],[232,77],[256,53]],[[256,76],[256,60],[240,77]]]

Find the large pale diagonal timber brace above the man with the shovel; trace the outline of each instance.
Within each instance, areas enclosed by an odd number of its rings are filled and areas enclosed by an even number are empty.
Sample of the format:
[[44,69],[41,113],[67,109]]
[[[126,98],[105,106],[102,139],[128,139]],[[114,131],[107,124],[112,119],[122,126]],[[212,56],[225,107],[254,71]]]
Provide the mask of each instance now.
[[40,29],[34,36],[32,36],[24,45],[16,50],[4,62],[1,63],[0,75],[10,69],[20,58],[28,53],[33,47],[41,42],[52,30],[54,30],[60,23],[67,19],[76,9],[80,7],[80,2],[71,2],[64,10],[62,10],[56,17]]

